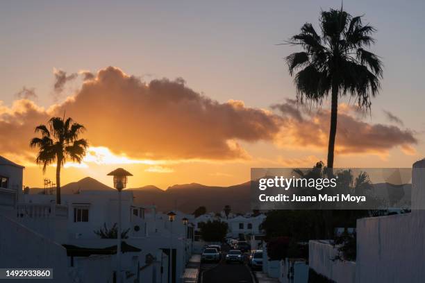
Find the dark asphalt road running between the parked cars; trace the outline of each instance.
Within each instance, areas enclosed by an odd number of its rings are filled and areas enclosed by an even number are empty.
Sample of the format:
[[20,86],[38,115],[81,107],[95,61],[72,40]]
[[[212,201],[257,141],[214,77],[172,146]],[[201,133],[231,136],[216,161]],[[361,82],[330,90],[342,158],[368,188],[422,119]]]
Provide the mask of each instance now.
[[[226,248],[224,248],[226,250]],[[224,252],[223,257],[226,254]],[[201,264],[200,283],[255,283],[247,264]]]

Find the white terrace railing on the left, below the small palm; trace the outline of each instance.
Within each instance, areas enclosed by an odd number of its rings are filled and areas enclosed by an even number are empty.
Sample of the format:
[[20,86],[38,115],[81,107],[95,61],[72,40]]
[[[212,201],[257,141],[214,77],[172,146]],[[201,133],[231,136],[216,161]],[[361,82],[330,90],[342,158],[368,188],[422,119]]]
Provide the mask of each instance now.
[[68,207],[54,203],[20,203],[17,205],[18,218],[67,218]]

